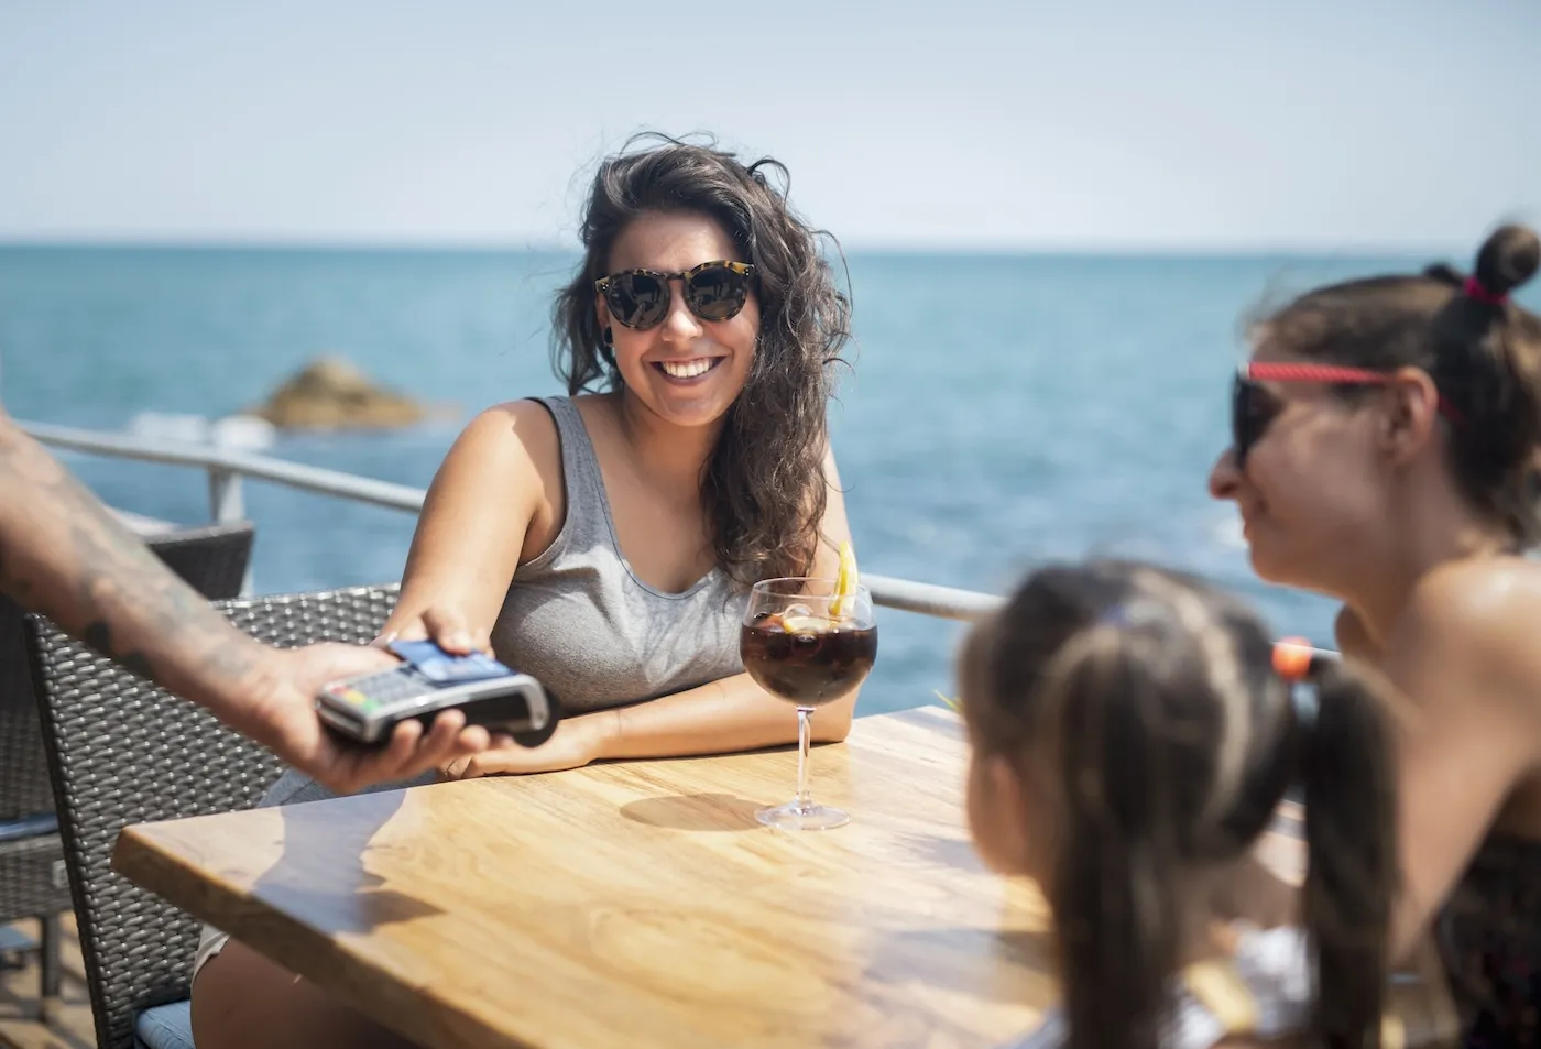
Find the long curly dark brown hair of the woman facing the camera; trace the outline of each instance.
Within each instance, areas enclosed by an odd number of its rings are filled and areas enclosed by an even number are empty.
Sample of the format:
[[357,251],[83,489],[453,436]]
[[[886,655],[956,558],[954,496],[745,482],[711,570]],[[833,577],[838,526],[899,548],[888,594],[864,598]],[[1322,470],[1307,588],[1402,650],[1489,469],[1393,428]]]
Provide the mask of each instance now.
[[[635,151],[640,139],[656,145]],[[610,271],[610,250],[627,223],[644,213],[700,214],[754,263],[755,360],[701,473],[717,562],[744,587],[806,573],[814,562],[828,502],[826,410],[851,337],[851,302],[818,250],[829,234],[792,211],[786,186],[786,168],[770,157],[744,165],[710,145],[632,139],[599,163],[579,228],[582,266],[552,311],[553,364],[567,391],[621,390],[593,282]]]

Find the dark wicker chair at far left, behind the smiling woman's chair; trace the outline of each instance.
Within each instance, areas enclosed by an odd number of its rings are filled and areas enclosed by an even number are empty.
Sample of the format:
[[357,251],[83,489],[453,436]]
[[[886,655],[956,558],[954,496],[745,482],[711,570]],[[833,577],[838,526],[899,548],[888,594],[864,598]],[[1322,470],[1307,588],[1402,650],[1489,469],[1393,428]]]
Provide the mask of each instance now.
[[[146,542],[203,596],[234,598],[251,561],[253,528],[210,525]],[[48,1003],[59,997],[59,913],[69,909],[69,883],[22,622],[22,608],[0,596],[0,926],[39,920],[40,944],[18,938],[6,947],[40,949],[40,1001]]]

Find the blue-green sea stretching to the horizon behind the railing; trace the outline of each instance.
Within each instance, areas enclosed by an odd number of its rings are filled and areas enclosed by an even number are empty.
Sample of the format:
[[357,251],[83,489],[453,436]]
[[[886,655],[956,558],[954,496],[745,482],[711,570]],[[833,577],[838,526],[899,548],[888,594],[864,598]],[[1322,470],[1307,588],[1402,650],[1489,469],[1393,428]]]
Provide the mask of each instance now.
[[[1253,576],[1207,474],[1259,310],[1430,259],[877,254],[843,266],[851,367],[831,405],[863,570],[991,593],[1046,562],[1143,558],[1331,642],[1333,607]],[[562,393],[561,251],[0,245],[0,402],[17,419],[180,439],[427,487],[490,404]],[[1536,296],[1527,296],[1530,305]],[[394,431],[264,434],[228,422],[321,356],[444,407]],[[60,453],[103,501],[208,521],[202,470]],[[245,485],[259,593],[401,578],[415,519]],[[858,713],[952,695],[962,624],[880,610]]]

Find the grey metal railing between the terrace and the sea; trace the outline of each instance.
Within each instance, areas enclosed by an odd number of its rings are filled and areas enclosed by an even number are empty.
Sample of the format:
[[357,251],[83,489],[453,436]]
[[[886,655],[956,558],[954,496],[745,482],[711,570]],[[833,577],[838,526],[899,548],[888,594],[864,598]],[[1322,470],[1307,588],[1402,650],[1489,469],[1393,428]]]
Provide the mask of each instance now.
[[[219,524],[240,521],[247,516],[243,479],[268,481],[271,484],[314,491],[337,499],[367,502],[390,510],[418,513],[427,494],[422,488],[359,478],[358,474],[324,467],[308,467],[299,462],[274,459],[234,448],[134,437],[99,430],[76,430],[43,422],[20,424],[37,441],[54,448],[85,451],[139,462],[168,462],[182,467],[200,467],[208,471],[210,514]],[[977,619],[999,607],[1002,598],[977,590],[940,587],[931,582],[895,579],[863,573],[861,581],[872,592],[872,601],[886,608],[915,612],[940,619]]]

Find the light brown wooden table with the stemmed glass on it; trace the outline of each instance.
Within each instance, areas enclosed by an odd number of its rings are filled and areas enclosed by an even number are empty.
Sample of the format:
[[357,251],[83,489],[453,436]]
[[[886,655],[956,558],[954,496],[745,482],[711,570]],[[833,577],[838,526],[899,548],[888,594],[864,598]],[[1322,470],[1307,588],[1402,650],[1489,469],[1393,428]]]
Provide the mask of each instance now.
[[[791,716],[791,710],[787,712]],[[123,830],[114,867],[435,1049],[995,1046],[1054,998],[942,709],[791,750],[445,783]]]

